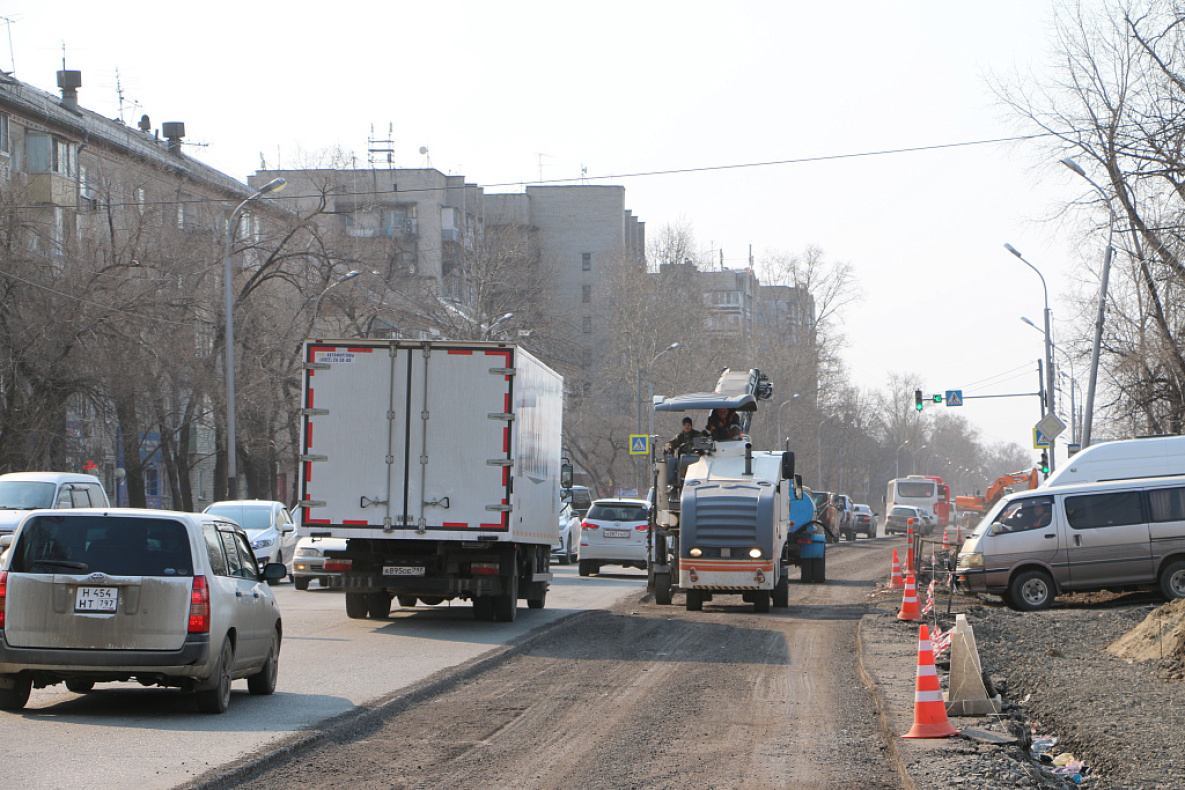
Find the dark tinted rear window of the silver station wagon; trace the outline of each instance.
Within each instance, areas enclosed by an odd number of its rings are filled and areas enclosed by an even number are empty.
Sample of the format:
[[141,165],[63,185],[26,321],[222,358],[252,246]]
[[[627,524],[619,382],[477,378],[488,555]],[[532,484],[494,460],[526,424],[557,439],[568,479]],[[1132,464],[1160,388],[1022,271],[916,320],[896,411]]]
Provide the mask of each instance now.
[[13,546],[17,573],[193,576],[185,526],[169,519],[43,515]]

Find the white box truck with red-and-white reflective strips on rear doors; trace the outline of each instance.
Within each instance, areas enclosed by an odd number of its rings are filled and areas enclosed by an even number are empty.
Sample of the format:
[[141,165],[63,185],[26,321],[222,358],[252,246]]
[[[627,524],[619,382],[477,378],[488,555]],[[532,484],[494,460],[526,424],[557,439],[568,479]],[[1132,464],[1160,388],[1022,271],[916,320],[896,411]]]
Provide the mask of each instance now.
[[[542,609],[559,537],[563,378],[501,342],[308,340],[300,533],[345,538],[350,617]],[[570,469],[563,470],[571,484]]]

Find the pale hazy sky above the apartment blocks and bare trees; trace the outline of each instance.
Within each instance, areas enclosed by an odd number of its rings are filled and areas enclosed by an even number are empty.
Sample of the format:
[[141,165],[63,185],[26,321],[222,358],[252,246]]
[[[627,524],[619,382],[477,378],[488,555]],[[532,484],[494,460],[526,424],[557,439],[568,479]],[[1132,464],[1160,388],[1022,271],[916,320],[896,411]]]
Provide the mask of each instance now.
[[[1068,297],[1101,249],[1051,220],[1082,182],[1033,144],[942,146],[1018,131],[989,78],[1049,79],[1052,5],[8,0],[0,68],[53,91],[64,57],[84,107],[120,117],[122,89],[127,123],[182,121],[188,153],[241,180],[334,148],[365,163],[372,128],[396,167],[495,192],[615,176],[594,182],[726,266],[750,245],[851,263],[856,385],[995,394],[1036,390],[1044,342],[1020,321],[1042,323],[1040,281],[1003,245],[1045,275],[1059,343],[1090,336]],[[696,172],[787,160],[806,161]],[[632,175],[656,171],[687,172]],[[960,413],[1031,447],[1039,405]]]

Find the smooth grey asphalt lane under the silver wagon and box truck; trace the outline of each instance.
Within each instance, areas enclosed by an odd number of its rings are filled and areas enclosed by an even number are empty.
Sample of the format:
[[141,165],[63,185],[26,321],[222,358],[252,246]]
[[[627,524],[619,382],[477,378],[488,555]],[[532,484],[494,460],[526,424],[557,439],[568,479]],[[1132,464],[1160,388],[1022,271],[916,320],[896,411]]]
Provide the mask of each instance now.
[[174,788],[575,611],[609,608],[645,584],[638,571],[583,579],[575,566],[553,571],[546,609],[519,602],[514,623],[474,621],[468,604],[347,619],[340,592],[315,583],[307,592],[274,587],[284,622],[274,695],[251,696],[246,681],[236,681],[230,711],[210,715],[197,713],[190,695],[135,683],[85,695],[62,685],[34,689],[23,712],[0,713],[4,786]]

